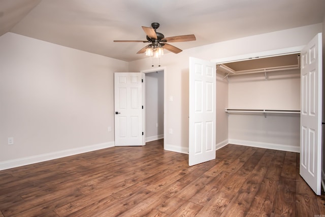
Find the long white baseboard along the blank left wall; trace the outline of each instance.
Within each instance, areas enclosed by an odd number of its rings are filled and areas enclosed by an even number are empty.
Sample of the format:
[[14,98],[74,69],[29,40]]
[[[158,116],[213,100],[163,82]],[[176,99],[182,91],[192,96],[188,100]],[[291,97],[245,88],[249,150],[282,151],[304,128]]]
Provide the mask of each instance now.
[[72,156],[72,155],[79,154],[79,153],[85,153],[85,152],[89,152],[89,151],[100,150],[103,148],[109,148],[109,147],[114,147],[114,146],[115,146],[114,141],[113,142],[105,142],[105,143],[101,143],[101,144],[88,145],[88,146],[71,148],[71,149],[62,150],[62,151],[55,151],[55,152],[51,152],[51,153],[39,154],[37,156],[30,156],[30,157],[20,158],[20,159],[15,159],[15,160],[10,160],[10,161],[3,161],[3,162],[0,162],[0,170],[6,170],[6,169],[14,168],[14,167],[20,167],[20,166],[25,166],[25,165],[29,165],[29,164],[40,163],[40,162],[44,162],[44,161],[68,157],[68,156]]

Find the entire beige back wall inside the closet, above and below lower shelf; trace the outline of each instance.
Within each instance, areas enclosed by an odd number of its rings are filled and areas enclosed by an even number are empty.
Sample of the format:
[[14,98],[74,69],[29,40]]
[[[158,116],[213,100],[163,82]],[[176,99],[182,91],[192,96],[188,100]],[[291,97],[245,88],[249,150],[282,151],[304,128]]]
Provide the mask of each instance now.
[[[300,69],[230,76],[226,108],[300,110]],[[300,114],[229,113],[228,137],[232,144],[299,152]]]

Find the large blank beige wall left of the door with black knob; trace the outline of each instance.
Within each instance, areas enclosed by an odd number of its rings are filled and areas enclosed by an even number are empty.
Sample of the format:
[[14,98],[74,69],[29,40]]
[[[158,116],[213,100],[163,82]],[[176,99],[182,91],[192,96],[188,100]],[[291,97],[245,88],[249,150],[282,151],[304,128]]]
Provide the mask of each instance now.
[[0,169],[114,145],[113,73],[126,62],[13,33],[0,47]]

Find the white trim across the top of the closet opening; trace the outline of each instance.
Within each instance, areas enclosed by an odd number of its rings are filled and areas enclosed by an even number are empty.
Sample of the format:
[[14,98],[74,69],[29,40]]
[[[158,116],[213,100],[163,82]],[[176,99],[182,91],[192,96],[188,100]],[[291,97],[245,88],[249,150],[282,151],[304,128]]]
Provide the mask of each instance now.
[[262,51],[262,52],[257,52],[257,53],[247,53],[247,54],[238,55],[238,56],[230,56],[230,57],[225,57],[225,58],[212,59],[211,62],[216,63],[216,64],[221,64],[221,63],[225,64],[225,63],[232,63],[232,62],[248,60],[248,59],[294,54],[294,53],[300,53],[300,51],[304,47],[305,47],[305,45],[296,46],[296,47],[288,47],[288,48],[277,49],[277,50],[268,50],[268,51]]

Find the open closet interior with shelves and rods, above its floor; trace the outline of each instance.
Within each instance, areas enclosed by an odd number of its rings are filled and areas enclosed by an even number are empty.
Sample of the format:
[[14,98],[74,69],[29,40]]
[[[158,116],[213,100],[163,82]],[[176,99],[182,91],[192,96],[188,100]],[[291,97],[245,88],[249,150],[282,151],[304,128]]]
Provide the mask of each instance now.
[[299,152],[299,54],[220,64],[217,75],[229,143]]

